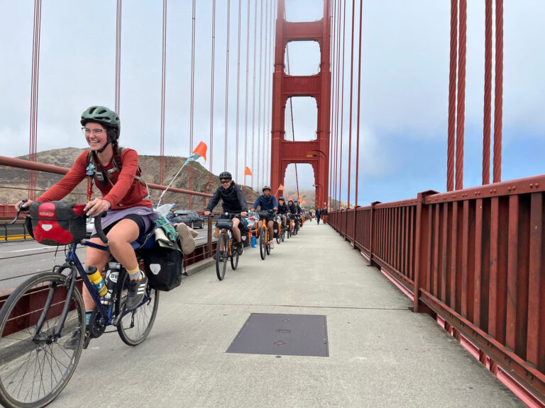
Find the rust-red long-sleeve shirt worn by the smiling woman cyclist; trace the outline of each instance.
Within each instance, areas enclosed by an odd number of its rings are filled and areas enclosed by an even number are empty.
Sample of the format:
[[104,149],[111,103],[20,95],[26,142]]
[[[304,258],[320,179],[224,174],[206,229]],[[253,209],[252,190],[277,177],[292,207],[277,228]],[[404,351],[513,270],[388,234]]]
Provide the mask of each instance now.
[[[72,169],[65,174],[62,180],[36,198],[36,201],[60,200],[67,196],[86,177],[85,171],[87,169],[88,154],[89,150],[80,154]],[[106,166],[101,166],[99,163],[96,165],[104,169],[107,173],[108,170],[114,168],[113,159],[112,157]],[[147,188],[141,181],[135,178],[137,171],[138,153],[133,149],[123,149],[123,152],[121,152],[121,173],[118,171],[108,173],[109,181],[106,181],[104,186],[97,183],[95,179],[94,185],[102,193],[102,199],[111,204],[111,210],[123,210],[123,208],[136,206],[152,207],[151,200],[144,199],[148,196]]]

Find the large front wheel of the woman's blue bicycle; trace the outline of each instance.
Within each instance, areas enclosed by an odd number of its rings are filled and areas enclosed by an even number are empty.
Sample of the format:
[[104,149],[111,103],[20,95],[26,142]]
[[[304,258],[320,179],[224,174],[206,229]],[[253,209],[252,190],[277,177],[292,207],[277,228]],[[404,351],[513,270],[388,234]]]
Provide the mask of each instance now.
[[[74,373],[85,335],[82,295],[67,298],[67,277],[44,272],[18,286],[0,311],[0,402],[4,407],[43,407]],[[55,338],[68,302],[68,313]]]

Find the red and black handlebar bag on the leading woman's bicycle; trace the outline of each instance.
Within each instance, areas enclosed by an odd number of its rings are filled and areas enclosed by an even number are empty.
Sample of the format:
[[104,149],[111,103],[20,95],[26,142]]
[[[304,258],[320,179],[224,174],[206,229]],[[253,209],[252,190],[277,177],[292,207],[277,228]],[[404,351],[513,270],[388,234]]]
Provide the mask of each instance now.
[[85,238],[85,204],[35,201],[29,206],[25,225],[31,236],[43,245],[66,245]]

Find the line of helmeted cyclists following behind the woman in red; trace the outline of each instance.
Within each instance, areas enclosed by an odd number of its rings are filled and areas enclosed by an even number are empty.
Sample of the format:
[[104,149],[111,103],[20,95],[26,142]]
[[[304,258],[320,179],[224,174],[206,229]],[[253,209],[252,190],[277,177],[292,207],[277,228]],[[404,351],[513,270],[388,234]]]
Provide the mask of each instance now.
[[[240,224],[244,217],[248,215],[248,205],[246,204],[246,198],[240,187],[236,185],[233,181],[233,176],[229,171],[224,171],[219,174],[219,181],[221,186],[219,186],[216,191],[214,191],[214,196],[207,205],[207,208],[204,210],[204,215],[208,216],[211,214],[212,210],[218,205],[219,200],[221,199],[221,205],[224,212],[227,213],[239,213],[240,217],[233,217],[233,227],[231,229],[233,237],[236,241],[236,250],[238,255],[244,253],[244,246],[241,239],[241,230]],[[299,223],[301,216],[303,215],[303,210],[299,205],[298,200],[290,200],[285,202],[284,197],[278,198],[271,194],[270,186],[263,186],[261,189],[263,194],[255,200],[251,208],[252,212],[255,212],[257,208],[260,209],[262,216],[258,222],[258,229],[261,228],[263,222],[266,223],[269,239],[270,239],[270,249],[274,248],[275,244],[273,241],[274,238],[274,222],[276,217],[280,217],[282,222],[282,229],[286,229],[288,221],[294,219],[295,222]]]

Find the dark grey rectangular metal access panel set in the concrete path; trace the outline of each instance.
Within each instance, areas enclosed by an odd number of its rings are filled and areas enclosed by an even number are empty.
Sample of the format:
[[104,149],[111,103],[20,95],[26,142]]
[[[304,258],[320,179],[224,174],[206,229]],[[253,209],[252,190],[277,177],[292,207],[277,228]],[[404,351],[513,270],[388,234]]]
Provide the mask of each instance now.
[[227,353],[329,357],[326,317],[252,313]]

